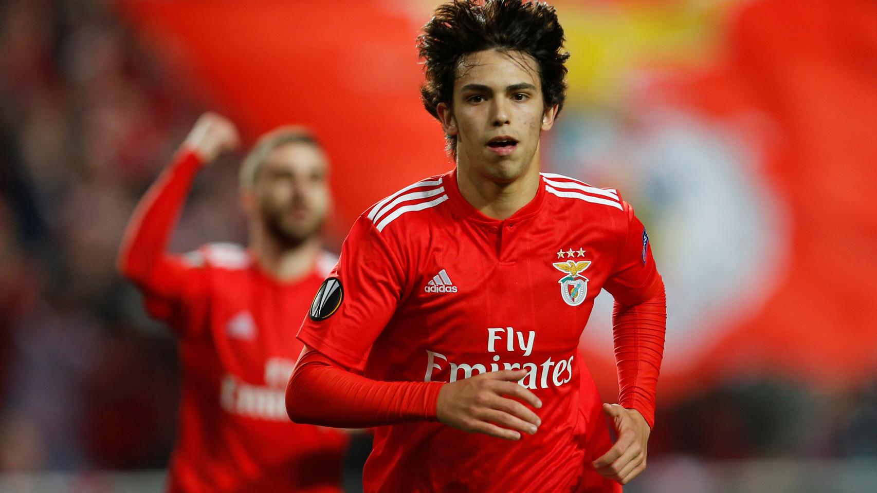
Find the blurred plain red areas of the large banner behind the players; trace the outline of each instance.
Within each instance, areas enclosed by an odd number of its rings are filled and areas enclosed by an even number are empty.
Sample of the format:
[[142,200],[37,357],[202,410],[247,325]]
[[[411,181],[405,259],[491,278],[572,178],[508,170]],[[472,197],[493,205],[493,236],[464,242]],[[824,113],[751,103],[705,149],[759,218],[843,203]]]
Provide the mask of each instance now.
[[[452,166],[418,100],[417,24],[388,4],[136,0],[118,8],[251,139],[284,123],[314,129],[332,157],[336,227],[346,230],[381,196]],[[877,375],[877,4],[765,0],[734,15],[709,71],[674,74],[648,97],[706,120],[766,116],[746,132],[764,143],[758,173],[788,207],[786,267],[755,313],[715,320],[731,327],[667,366],[661,398],[741,375],[831,388]],[[746,281],[753,287],[766,282],[758,271]],[[700,321],[702,330],[713,323]],[[591,353],[595,377],[611,389],[611,353]]]

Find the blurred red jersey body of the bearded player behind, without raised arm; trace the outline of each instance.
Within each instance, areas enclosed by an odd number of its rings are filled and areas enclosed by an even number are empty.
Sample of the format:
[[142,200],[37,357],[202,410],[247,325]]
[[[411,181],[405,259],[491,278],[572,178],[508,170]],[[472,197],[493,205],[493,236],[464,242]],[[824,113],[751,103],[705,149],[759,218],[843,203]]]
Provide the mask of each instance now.
[[178,261],[188,272],[178,277],[182,298],[146,296],[149,312],[179,335],[182,397],[169,489],[339,492],[346,435],[290,422],[284,403],[303,348],[295,327],[334,258],[324,255],[291,284],[228,243]]

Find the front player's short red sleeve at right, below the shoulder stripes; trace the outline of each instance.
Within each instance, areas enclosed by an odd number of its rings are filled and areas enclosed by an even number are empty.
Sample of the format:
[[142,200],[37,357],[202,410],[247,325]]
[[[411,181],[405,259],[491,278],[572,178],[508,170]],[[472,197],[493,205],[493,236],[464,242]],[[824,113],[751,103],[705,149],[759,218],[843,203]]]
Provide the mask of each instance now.
[[648,233],[627,202],[624,202],[624,215],[627,223],[624,243],[603,288],[618,303],[632,306],[651,299],[660,290],[661,282]]

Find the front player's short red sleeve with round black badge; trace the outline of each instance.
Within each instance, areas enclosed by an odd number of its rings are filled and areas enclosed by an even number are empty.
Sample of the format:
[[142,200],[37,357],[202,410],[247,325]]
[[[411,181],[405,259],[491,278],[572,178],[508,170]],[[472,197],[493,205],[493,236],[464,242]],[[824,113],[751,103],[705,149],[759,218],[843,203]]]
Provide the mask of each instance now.
[[298,338],[348,369],[362,371],[372,343],[402,298],[405,274],[394,243],[361,216],[320,286]]

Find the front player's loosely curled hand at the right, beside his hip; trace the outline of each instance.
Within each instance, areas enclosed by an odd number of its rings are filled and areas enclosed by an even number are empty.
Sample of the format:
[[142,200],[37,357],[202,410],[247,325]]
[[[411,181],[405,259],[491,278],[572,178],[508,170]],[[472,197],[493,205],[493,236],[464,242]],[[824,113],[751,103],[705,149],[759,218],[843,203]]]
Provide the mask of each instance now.
[[645,470],[645,451],[652,429],[635,409],[604,404],[603,412],[612,421],[618,440],[609,452],[594,461],[594,468],[603,477],[627,484]]

